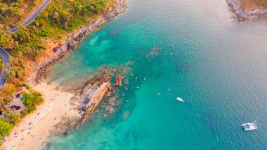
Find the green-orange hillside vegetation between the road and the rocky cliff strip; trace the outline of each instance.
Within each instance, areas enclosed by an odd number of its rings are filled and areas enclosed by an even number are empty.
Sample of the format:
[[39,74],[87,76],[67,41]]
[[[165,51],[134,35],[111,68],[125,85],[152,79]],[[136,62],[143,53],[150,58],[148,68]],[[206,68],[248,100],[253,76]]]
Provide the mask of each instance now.
[[5,33],[8,27],[0,24],[0,46],[13,56],[8,82],[16,87],[25,86],[22,84],[27,77],[25,60],[36,61],[42,56],[46,39],[60,40],[68,32],[89,24],[111,6],[114,6],[112,0],[53,0],[29,26],[20,26],[18,32]]

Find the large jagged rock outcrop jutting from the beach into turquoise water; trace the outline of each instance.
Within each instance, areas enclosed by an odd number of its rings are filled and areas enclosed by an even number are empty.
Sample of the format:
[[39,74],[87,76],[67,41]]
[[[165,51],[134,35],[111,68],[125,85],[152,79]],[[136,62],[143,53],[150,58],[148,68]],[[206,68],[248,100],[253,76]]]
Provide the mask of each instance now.
[[[77,95],[82,104],[81,113],[83,117],[80,119],[79,123],[74,127],[77,129],[80,124],[84,123],[90,115],[97,113],[100,108],[104,111],[103,117],[106,119],[112,118],[112,115],[120,109],[119,104],[122,102],[122,96],[128,87],[121,88],[122,82],[129,84],[126,80],[126,73],[128,73],[126,68],[120,66],[119,71],[115,69],[100,68],[98,71],[100,73],[94,75],[84,86],[84,89]],[[124,76],[123,76],[124,75]],[[115,82],[112,83],[111,79],[115,77]],[[126,88],[126,89],[125,89]],[[121,95],[117,92],[122,92]],[[103,103],[100,104],[101,100]],[[97,108],[100,104],[100,108]],[[127,118],[129,114],[126,114]]]

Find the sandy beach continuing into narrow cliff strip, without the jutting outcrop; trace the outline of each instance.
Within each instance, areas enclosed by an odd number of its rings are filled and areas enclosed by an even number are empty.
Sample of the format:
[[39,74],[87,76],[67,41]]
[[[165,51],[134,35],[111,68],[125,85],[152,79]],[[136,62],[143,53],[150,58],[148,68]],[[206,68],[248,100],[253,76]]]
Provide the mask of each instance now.
[[[46,75],[46,68],[56,61],[66,56],[66,54],[75,49],[77,44],[89,35],[93,30],[98,29],[108,20],[116,18],[120,14],[126,11],[126,0],[119,0],[115,8],[110,13],[101,15],[98,20],[95,20],[91,25],[81,27],[78,32],[72,34],[72,36],[57,49],[56,53],[46,58],[46,61],[38,63],[32,75],[30,75],[29,82],[33,85],[33,89],[40,91],[44,94],[45,102],[41,106],[37,107],[37,111],[27,115],[22,121],[16,125],[9,136],[6,137],[4,142],[4,149],[39,149],[42,144],[45,144],[45,140],[51,134],[62,134],[66,130],[60,131],[56,128],[60,123],[72,120],[73,123],[80,122],[82,118],[80,110],[79,99],[73,99],[75,94],[70,92],[63,92],[58,90],[56,85],[48,83],[46,80],[42,80]],[[79,120],[79,121],[77,121]],[[79,127],[79,126],[78,126]],[[54,131],[54,132],[51,132]],[[55,132],[56,131],[56,132]],[[43,145],[45,146],[45,145]]]

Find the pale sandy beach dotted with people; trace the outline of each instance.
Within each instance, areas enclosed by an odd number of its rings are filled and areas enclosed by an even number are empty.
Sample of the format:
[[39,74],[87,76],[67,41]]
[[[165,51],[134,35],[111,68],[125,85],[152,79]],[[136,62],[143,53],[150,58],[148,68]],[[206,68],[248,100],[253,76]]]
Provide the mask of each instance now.
[[2,149],[39,149],[53,125],[60,123],[63,116],[80,117],[79,111],[70,105],[70,99],[74,94],[61,92],[55,87],[44,82],[33,87],[44,94],[45,102],[38,106],[37,111],[15,125],[11,135],[6,137]]

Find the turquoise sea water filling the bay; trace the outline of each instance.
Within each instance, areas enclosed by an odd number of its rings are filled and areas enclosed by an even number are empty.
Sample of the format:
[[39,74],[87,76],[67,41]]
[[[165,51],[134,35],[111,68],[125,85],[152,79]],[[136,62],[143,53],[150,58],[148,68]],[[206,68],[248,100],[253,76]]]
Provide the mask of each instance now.
[[123,65],[129,91],[49,149],[267,149],[267,19],[233,16],[224,0],[129,0],[50,74],[67,89]]

